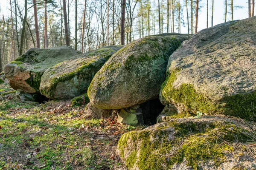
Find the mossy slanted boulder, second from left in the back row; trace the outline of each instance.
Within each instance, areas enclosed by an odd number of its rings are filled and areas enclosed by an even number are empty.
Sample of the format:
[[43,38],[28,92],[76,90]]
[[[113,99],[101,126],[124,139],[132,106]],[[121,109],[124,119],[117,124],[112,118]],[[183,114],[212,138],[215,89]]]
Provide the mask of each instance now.
[[49,68],[41,78],[40,93],[50,99],[72,98],[86,93],[96,72],[122,47],[99,48]]

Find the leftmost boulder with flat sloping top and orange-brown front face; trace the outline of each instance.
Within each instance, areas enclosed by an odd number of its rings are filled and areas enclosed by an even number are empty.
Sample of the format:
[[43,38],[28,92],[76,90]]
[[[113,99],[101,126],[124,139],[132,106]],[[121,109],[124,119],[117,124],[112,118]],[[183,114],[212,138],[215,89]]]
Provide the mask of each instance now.
[[15,90],[39,93],[41,76],[49,67],[81,54],[68,46],[30,48],[25,54],[4,66],[4,73]]

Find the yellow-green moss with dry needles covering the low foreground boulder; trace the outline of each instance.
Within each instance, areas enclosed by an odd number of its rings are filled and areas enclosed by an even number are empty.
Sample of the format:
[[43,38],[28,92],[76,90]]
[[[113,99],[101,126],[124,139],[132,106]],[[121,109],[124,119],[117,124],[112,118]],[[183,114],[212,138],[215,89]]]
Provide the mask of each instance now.
[[140,170],[171,169],[186,160],[186,165],[197,170],[200,162],[212,160],[216,166],[224,162],[236,142],[256,142],[252,129],[232,121],[175,120],[122,135],[118,152],[126,166]]

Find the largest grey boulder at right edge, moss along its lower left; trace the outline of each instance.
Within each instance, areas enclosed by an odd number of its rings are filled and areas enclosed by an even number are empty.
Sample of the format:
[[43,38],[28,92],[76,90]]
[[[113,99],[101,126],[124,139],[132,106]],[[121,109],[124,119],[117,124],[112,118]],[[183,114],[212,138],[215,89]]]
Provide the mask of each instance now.
[[168,62],[163,104],[178,113],[226,114],[256,121],[256,17],[204,29]]

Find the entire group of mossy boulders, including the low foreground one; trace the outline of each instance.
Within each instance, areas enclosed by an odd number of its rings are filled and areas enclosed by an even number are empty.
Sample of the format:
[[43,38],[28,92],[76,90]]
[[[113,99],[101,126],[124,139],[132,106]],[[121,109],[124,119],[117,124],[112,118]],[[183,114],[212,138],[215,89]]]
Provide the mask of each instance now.
[[[58,62],[61,52],[47,59],[47,51],[35,48],[4,70],[12,88],[28,93],[53,99],[83,94],[73,99],[74,105],[90,101],[85,110],[98,117],[114,111],[121,123],[150,125],[161,112],[158,120],[163,123],[125,133],[120,139],[117,153],[131,170],[240,165],[253,169],[255,159],[245,154],[251,152],[248,142],[256,143],[255,123],[200,117],[224,114],[256,121],[255,26],[256,17],[251,17],[193,36],[148,36],[123,48],[105,47],[80,55],[61,47],[70,52]],[[183,118],[196,114],[199,119]],[[241,153],[234,151],[239,143],[244,143],[241,149],[247,148]]]

